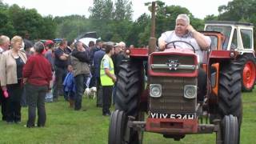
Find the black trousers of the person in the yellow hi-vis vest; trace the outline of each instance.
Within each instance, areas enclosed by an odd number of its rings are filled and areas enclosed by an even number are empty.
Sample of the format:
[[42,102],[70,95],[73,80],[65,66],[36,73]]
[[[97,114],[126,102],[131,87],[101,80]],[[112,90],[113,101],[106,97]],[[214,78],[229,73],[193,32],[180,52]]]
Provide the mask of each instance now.
[[110,113],[113,86],[102,86],[102,114]]

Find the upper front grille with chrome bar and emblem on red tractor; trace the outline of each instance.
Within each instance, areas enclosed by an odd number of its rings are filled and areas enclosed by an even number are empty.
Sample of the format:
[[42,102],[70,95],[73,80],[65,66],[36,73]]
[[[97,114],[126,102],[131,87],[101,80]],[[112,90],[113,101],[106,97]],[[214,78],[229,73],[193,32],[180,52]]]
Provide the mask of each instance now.
[[[170,62],[170,61],[177,61],[179,65],[185,65],[185,66],[195,66],[194,63],[194,57],[191,56],[181,56],[181,55],[175,55],[175,54],[170,54],[170,55],[154,55],[153,56],[153,63],[151,65],[152,70],[155,73],[172,73],[172,74],[179,74],[179,73],[192,73],[194,72],[194,70],[196,69],[194,67],[194,69],[177,69],[177,70],[170,70],[168,68],[168,66],[166,65],[166,63]],[[166,65],[166,68],[154,68],[153,66],[155,65]]]

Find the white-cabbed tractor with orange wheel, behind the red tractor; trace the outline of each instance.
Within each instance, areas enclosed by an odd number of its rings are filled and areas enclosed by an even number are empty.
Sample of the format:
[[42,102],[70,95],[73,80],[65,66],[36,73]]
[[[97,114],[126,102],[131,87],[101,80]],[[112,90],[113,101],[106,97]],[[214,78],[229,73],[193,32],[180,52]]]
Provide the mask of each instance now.
[[232,50],[239,55],[242,90],[254,89],[256,79],[256,57],[254,51],[254,26],[248,22],[210,21],[206,31],[218,31],[224,35],[222,50]]

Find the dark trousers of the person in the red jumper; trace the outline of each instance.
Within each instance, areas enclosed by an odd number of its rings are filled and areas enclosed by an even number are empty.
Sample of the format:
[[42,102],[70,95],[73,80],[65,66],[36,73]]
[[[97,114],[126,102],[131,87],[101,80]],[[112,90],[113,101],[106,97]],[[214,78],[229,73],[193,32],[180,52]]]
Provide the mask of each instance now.
[[34,86],[32,84],[26,85],[27,104],[29,106],[29,118],[26,125],[33,127],[36,118],[36,108],[38,108],[38,126],[45,126],[46,124],[46,107],[45,97],[48,88],[47,86]]

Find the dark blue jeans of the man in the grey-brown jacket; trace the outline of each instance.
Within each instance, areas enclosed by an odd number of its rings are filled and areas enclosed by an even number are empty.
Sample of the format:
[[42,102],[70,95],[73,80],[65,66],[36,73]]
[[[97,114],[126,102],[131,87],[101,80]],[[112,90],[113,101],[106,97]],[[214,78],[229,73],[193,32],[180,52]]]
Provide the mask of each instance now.
[[86,82],[86,74],[78,74],[74,77],[74,83],[76,88],[74,98],[74,110],[80,110],[82,108],[82,94],[85,91],[84,82]]

